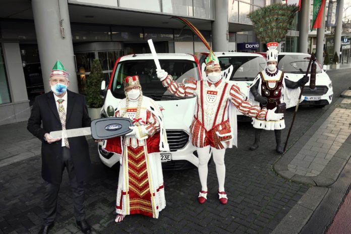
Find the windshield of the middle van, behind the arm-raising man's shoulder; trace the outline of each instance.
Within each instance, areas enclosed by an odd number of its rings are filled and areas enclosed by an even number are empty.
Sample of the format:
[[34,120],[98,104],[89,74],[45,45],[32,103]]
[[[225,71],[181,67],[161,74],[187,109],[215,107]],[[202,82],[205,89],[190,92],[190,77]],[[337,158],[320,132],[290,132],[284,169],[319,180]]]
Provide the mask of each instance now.
[[253,81],[257,74],[267,66],[265,59],[261,56],[218,57],[218,60],[222,71],[230,65],[233,66],[230,76],[232,81]]

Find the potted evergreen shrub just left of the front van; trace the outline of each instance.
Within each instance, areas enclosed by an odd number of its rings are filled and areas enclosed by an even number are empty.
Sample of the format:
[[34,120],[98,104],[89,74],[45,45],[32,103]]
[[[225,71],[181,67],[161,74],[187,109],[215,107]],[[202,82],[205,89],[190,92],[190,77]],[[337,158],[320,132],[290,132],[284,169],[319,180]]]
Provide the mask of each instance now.
[[100,86],[103,81],[103,73],[99,60],[93,60],[90,75],[87,77],[86,100],[89,116],[92,120],[100,118],[103,98],[100,96]]

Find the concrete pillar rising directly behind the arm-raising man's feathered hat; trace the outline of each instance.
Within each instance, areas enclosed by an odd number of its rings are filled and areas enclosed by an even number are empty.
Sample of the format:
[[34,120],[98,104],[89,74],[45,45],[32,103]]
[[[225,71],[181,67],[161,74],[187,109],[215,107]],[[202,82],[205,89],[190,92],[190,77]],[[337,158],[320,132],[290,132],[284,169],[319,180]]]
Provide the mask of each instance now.
[[212,49],[228,51],[228,1],[214,1],[214,22],[212,23]]

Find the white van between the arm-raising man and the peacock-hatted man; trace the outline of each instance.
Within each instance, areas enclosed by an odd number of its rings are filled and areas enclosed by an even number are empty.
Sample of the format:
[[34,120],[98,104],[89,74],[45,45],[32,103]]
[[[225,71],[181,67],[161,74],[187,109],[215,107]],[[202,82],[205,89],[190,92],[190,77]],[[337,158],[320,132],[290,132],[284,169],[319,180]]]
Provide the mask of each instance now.
[[[233,66],[229,83],[239,86],[240,91],[248,94],[249,87],[259,72],[267,67],[264,56],[259,53],[245,52],[214,52],[218,57],[222,71]],[[202,53],[200,64],[203,63],[208,53]],[[251,118],[237,111],[238,121],[251,121]]]

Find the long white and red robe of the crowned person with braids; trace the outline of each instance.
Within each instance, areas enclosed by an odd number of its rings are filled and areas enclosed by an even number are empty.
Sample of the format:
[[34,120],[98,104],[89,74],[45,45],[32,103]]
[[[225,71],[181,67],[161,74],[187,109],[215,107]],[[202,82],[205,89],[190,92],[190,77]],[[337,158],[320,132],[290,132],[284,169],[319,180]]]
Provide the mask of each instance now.
[[[106,140],[104,149],[123,155],[116,196],[116,213],[143,214],[158,218],[166,203],[163,188],[161,159],[157,152],[168,150],[162,124],[162,113],[148,97],[143,97],[140,116],[136,119],[138,101],[121,100],[115,116],[139,123],[136,135]],[[160,143],[163,146],[160,147]]]

